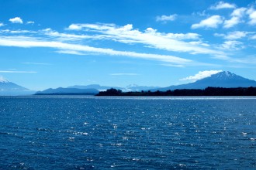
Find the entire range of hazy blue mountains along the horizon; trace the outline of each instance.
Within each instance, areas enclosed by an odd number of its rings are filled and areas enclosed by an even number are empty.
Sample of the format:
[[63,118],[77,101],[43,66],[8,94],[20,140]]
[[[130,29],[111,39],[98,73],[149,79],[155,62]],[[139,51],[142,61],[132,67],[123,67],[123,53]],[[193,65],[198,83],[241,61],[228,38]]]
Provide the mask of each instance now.
[[[197,80],[193,83],[185,83],[177,86],[170,87],[147,87],[138,86],[136,84],[129,85],[127,87],[108,87],[101,86],[99,84],[90,84],[86,86],[71,86],[71,87],[59,87],[57,89],[47,89],[43,91],[38,91],[36,94],[96,94],[99,91],[107,90],[110,88],[115,88],[127,91],[166,91],[175,89],[205,89],[206,87],[256,87],[255,80],[249,80],[242,76],[237,76],[229,71],[222,71],[220,73],[213,74],[201,80]],[[16,83],[9,82],[8,80],[0,80],[0,95],[29,95],[35,93],[34,91],[28,90],[25,87],[21,87]]]

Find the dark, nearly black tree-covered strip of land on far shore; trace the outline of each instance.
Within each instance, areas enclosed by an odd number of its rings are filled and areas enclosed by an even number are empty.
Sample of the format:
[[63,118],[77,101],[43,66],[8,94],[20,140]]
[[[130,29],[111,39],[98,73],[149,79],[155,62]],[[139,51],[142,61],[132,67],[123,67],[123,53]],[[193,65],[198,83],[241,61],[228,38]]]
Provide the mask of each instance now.
[[114,88],[100,91],[96,96],[256,96],[256,87],[207,87],[206,89],[177,89],[167,91],[130,91],[123,92]]

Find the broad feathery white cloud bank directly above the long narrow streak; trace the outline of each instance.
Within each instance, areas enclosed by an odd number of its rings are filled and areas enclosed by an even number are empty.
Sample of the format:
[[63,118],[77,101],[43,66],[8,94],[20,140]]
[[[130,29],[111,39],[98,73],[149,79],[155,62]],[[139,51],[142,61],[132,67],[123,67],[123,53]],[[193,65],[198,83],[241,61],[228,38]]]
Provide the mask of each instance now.
[[[72,24],[74,26],[74,24]],[[182,53],[204,53],[210,55],[219,55],[219,50],[207,48],[202,46],[202,43],[192,44],[183,39],[199,39],[199,34],[173,34],[157,32],[156,29],[147,28],[144,32],[138,29],[133,29],[133,25],[116,26],[113,24],[78,24],[78,27],[86,32],[98,32],[101,38],[109,39],[116,42],[123,43],[140,43],[144,46],[164,49],[167,51],[182,52]],[[99,36],[99,35],[96,35]]]

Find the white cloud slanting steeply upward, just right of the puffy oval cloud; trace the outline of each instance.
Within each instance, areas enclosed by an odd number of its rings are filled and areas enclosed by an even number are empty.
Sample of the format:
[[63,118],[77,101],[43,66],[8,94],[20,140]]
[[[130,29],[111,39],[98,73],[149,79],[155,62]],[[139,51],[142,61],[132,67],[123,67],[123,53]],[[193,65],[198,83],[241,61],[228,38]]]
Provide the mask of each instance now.
[[231,14],[231,19],[225,20],[224,28],[229,29],[233,26],[236,26],[240,22],[243,22],[241,19],[243,18],[247,8],[236,8]]

